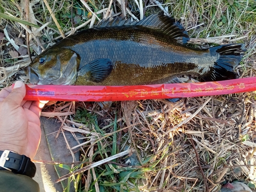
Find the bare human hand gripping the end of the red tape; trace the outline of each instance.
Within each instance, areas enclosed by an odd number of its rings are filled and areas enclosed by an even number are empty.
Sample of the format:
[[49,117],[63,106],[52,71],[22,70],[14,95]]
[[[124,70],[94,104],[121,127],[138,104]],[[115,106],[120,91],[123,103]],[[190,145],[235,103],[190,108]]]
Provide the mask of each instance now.
[[0,150],[35,157],[40,138],[40,101],[25,101],[26,87],[16,81],[14,88],[0,91]]

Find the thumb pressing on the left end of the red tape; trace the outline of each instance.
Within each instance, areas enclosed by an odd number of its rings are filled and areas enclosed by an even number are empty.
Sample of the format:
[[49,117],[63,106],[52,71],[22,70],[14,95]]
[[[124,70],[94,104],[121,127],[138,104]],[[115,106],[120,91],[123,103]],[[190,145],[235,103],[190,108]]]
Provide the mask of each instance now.
[[17,106],[22,103],[23,98],[26,95],[25,84],[22,81],[16,81],[11,93],[5,98],[5,101],[9,106]]

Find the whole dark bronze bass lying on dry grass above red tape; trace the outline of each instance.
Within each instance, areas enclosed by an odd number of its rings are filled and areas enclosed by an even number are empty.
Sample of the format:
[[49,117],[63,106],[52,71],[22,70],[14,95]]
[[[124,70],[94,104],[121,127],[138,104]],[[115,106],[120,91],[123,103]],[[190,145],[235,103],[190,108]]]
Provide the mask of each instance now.
[[237,78],[244,44],[193,49],[187,41],[172,17],[152,14],[139,22],[116,17],[62,39],[36,56],[25,73],[32,84],[86,86],[175,83],[182,75]]

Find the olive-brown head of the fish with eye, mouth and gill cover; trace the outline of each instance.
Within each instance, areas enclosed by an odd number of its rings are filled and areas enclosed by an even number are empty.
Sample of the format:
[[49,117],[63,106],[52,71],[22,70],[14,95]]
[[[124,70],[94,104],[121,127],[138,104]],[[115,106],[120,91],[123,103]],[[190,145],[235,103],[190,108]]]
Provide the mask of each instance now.
[[76,82],[80,57],[70,49],[48,49],[24,69],[32,84],[72,85]]

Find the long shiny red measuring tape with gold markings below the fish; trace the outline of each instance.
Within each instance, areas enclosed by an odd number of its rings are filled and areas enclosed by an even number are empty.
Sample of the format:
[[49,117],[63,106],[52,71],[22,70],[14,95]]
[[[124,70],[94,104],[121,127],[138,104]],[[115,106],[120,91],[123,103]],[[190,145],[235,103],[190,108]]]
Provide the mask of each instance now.
[[146,86],[53,86],[26,84],[25,100],[123,101],[224,95],[256,91],[256,77]]

